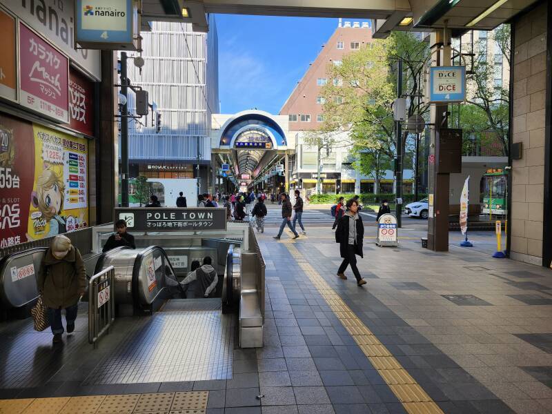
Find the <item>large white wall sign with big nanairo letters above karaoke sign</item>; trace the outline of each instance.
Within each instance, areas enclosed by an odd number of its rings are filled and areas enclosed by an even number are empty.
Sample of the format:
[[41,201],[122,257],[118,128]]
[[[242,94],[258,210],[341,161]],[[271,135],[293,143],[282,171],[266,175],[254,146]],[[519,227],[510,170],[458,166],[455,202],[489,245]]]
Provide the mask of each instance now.
[[[75,48],[75,1],[0,0],[10,12],[52,42],[77,66],[95,79],[101,79],[99,50]],[[4,39],[0,37],[0,39]],[[2,41],[2,47],[4,41]]]

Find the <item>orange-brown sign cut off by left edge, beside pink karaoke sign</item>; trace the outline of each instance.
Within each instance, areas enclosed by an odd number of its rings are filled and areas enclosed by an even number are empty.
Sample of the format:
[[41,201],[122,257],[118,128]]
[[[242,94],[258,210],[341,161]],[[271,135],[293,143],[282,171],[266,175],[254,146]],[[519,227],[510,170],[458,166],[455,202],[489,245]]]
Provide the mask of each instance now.
[[0,97],[17,99],[15,19],[0,9]]

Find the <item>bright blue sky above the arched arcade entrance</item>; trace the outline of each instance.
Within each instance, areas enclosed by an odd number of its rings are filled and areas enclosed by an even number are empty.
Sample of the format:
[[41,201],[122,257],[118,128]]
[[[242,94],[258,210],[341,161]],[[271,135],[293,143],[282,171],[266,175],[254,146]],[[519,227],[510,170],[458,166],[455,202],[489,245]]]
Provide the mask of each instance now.
[[277,114],[337,19],[217,14],[221,113]]

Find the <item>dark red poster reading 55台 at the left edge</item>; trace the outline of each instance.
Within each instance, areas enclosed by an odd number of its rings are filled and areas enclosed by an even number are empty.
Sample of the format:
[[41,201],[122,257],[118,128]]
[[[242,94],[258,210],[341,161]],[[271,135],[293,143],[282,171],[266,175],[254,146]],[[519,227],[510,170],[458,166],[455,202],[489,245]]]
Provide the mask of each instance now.
[[0,248],[27,241],[32,154],[32,124],[0,114]]

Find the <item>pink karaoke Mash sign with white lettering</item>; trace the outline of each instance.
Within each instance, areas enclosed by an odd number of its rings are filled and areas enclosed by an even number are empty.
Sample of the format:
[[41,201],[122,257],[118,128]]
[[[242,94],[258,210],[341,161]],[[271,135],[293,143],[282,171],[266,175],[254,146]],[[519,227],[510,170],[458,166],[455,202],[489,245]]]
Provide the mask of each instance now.
[[19,23],[19,103],[69,122],[69,60],[38,34]]

